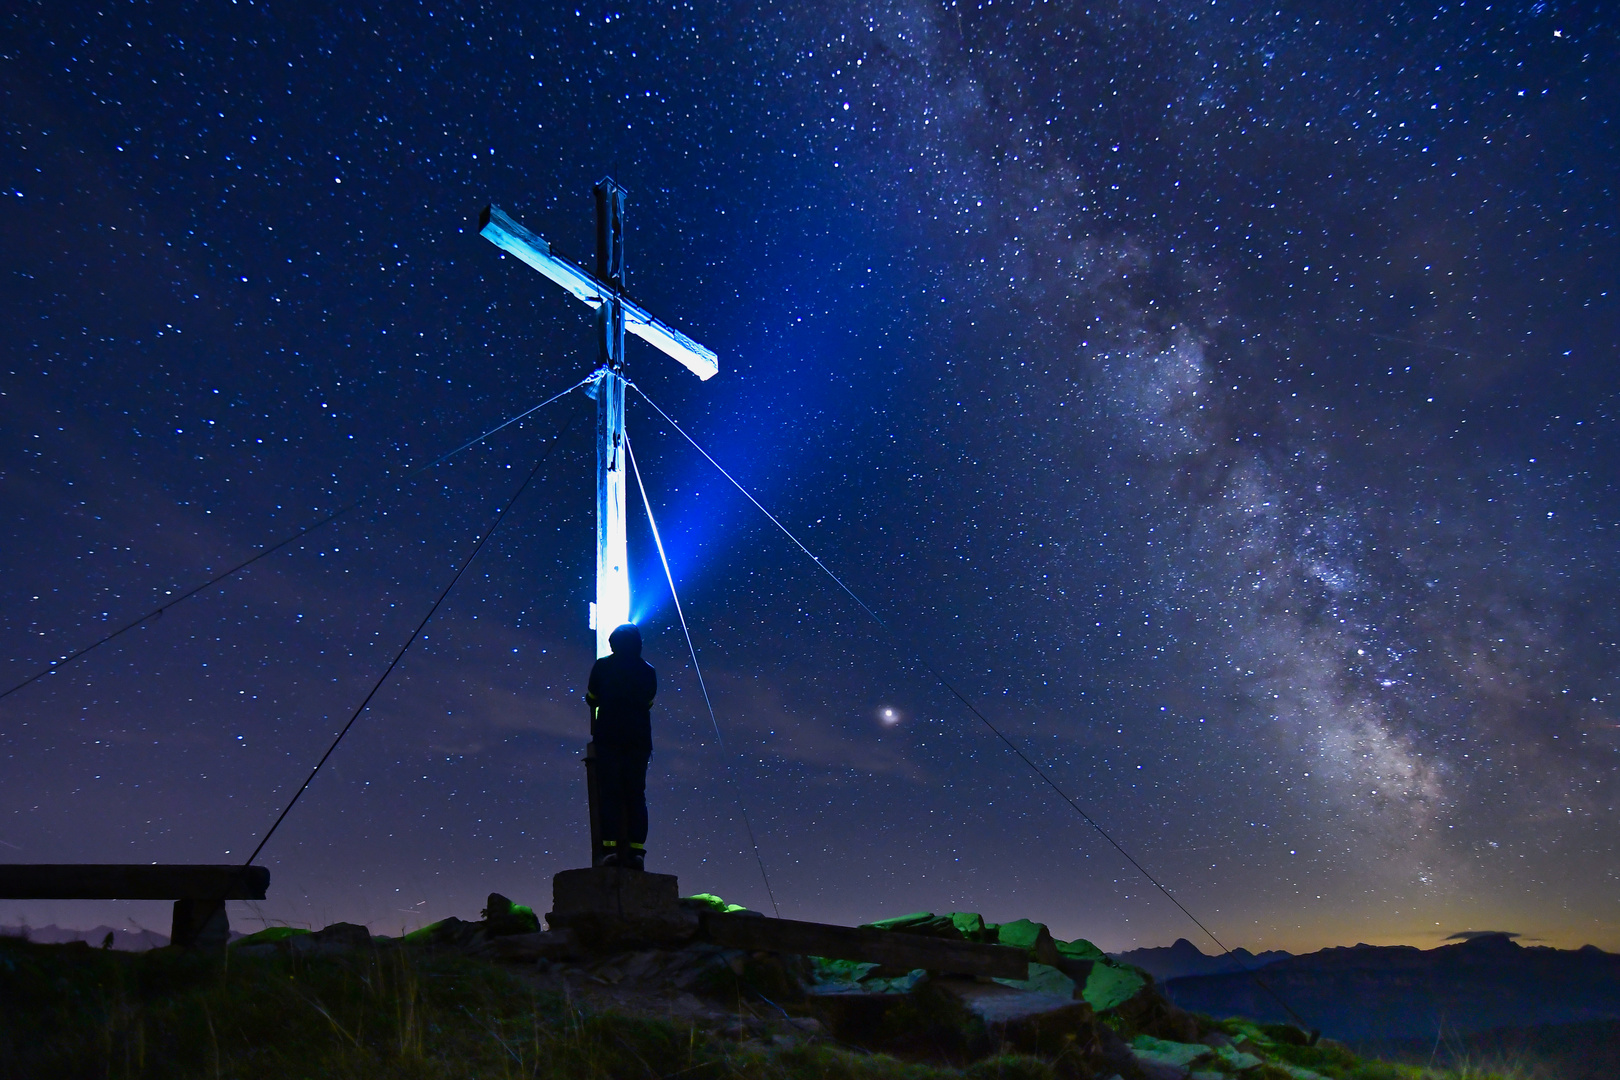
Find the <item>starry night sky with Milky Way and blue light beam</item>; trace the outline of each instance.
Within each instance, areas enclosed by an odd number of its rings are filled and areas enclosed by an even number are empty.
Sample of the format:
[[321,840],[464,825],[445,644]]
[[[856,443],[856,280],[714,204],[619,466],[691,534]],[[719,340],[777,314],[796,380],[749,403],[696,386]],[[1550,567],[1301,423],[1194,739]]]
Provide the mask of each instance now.
[[[586,860],[590,311],[630,372],[650,870],[784,916],[1620,947],[1620,66],[1599,5],[11,3],[0,858],[266,847],[267,921]],[[572,421],[572,426],[570,426]],[[561,429],[561,436],[557,434]],[[552,449],[554,445],[554,449]],[[5,688],[0,687],[0,688]],[[735,782],[729,780],[727,766]],[[165,904],[0,923],[167,931]],[[1200,939],[1205,950],[1213,950]]]

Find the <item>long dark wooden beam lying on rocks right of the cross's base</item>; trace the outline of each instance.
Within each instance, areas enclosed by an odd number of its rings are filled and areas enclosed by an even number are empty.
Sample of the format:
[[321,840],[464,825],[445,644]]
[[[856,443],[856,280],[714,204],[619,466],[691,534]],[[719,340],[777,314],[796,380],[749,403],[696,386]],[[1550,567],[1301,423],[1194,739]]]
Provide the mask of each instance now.
[[863,960],[897,968],[928,968],[951,975],[1029,978],[1029,957],[1022,949],[987,946],[975,941],[901,934],[872,926],[829,926],[763,915],[703,916],[705,936],[731,949],[795,952],[833,960]]

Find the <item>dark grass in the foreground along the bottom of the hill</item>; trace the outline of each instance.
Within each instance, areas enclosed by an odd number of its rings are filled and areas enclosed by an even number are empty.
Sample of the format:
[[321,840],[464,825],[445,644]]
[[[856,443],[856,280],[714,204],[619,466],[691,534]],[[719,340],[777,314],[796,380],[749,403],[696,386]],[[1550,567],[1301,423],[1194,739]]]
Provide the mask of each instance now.
[[[949,1069],[787,1035],[739,1043],[701,1027],[591,1012],[510,968],[397,944],[222,957],[0,939],[0,1002],[3,1080],[1090,1077],[1063,1054],[996,1052]],[[1332,1080],[1529,1075],[1388,1065],[1332,1044],[1280,1043],[1268,1056]],[[1285,1078],[1270,1065],[1246,1074]]]

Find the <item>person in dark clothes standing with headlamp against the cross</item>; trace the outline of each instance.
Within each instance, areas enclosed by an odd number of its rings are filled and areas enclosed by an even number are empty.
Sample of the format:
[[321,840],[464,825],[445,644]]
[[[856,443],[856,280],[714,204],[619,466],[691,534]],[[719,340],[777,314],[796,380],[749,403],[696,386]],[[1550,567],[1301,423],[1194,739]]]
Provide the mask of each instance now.
[[624,623],[608,635],[608,656],[591,665],[585,704],[596,745],[601,848],[593,866],[642,870],[646,858],[646,763],[653,756],[658,672],[642,659],[642,631]]

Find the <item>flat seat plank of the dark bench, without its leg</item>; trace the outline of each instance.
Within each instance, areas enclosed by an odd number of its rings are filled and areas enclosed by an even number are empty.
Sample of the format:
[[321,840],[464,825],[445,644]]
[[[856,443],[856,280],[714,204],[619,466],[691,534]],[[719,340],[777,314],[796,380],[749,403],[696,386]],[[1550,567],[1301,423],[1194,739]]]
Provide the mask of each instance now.
[[0,863],[5,900],[262,900],[264,866]]

